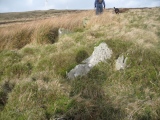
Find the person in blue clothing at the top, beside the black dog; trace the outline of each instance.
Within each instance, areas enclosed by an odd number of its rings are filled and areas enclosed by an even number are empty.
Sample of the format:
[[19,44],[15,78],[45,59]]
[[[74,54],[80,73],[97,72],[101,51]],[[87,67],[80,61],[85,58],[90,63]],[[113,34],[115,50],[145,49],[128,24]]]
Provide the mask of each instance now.
[[96,8],[96,15],[99,15],[103,12],[103,7],[105,9],[105,1],[104,0],[95,0],[94,6]]

